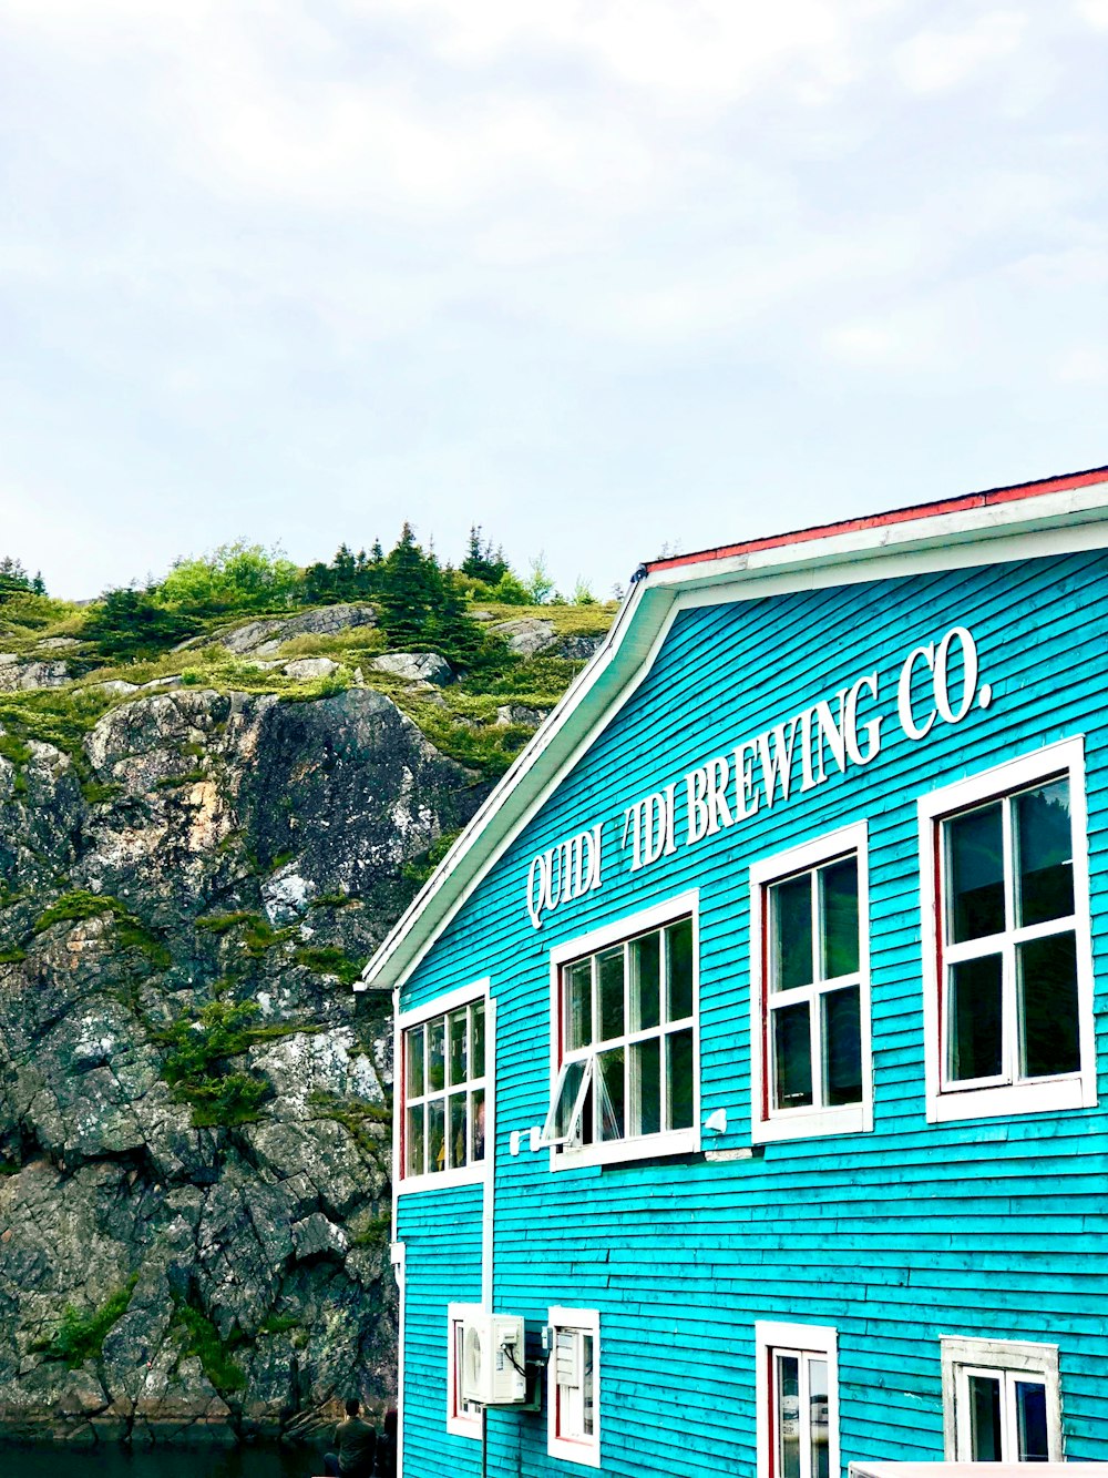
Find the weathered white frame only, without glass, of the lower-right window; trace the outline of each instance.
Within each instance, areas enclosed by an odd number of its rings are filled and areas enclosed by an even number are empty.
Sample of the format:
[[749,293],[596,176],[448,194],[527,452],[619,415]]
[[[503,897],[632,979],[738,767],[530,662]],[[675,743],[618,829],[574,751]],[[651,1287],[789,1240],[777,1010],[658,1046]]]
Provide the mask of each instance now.
[[[971,1462],[969,1386],[971,1375],[1002,1375],[1005,1377],[1033,1376],[1046,1386],[1047,1460],[1064,1460],[1062,1382],[1058,1345],[1040,1345],[1022,1339],[971,1339],[965,1335],[941,1335],[943,1351],[943,1443],[947,1462]],[[1000,1419],[1013,1443],[1015,1410],[1012,1382],[1005,1379]],[[1008,1462],[1016,1462],[1012,1456]],[[1031,1469],[1034,1472],[1034,1469]]]

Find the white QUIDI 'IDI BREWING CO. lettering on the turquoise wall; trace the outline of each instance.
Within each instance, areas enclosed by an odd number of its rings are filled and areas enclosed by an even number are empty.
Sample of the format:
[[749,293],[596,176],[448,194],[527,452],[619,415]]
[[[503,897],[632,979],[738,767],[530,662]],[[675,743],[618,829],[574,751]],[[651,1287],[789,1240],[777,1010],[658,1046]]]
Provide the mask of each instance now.
[[[959,724],[972,708],[988,708],[993,689],[978,678],[972,633],[951,627],[941,641],[913,647],[888,690],[876,671],[866,672],[833,696],[632,801],[613,842],[631,872],[650,868],[678,847],[696,847],[749,820],[762,807],[818,789],[832,774],[873,764],[889,724],[919,743],[937,724]],[[554,909],[600,888],[604,841],[604,823],[597,822],[532,859],[527,913],[535,928]]]

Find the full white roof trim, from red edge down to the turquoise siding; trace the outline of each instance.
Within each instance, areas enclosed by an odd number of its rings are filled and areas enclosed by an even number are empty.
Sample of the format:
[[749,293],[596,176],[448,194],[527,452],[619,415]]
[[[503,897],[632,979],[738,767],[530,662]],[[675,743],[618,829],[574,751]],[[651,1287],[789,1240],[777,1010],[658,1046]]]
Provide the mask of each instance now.
[[879,523],[653,571],[501,779],[355,989],[403,984],[474,888],[650,672],[678,610],[1108,545],[1108,473],[1092,486]]

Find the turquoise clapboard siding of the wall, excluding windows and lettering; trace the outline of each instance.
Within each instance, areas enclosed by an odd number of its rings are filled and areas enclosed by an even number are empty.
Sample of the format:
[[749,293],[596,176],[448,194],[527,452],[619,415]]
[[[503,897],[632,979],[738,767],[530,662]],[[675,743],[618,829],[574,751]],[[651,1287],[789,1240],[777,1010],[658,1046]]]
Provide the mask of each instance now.
[[[1099,1094],[1108,1103],[1108,557],[920,575],[683,612],[650,674],[443,931],[402,1009],[485,975],[498,1004],[493,1289],[498,1310],[601,1314],[603,1472],[755,1472],[753,1323],[839,1332],[841,1456],[941,1459],[940,1335],[1055,1342],[1070,1459],[1108,1460],[1108,1113],[928,1125],[919,795],[1055,739],[1086,736]],[[987,711],[909,742],[909,650],[972,630]],[[882,752],[629,873],[626,806],[879,670]],[[869,717],[869,712],[864,715]],[[604,822],[603,888],[532,928],[530,859]],[[702,1117],[749,1145],[748,869],[869,823],[875,1131],[792,1140],[731,1162],[685,1157],[553,1175],[508,1154],[548,1097],[551,947],[700,890]],[[480,1296],[480,1190],[403,1194],[406,1478],[477,1474],[445,1434],[446,1302]],[[443,1454],[449,1456],[448,1469]],[[547,1456],[547,1417],[489,1413],[489,1472],[585,1469]]]

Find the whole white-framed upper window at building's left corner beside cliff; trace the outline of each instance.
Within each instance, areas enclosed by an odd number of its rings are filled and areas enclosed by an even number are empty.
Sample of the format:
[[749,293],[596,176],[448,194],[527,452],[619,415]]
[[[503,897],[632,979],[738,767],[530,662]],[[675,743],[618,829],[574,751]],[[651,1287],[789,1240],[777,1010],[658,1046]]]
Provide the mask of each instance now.
[[396,1191],[483,1179],[492,1125],[489,981],[397,1017]]

